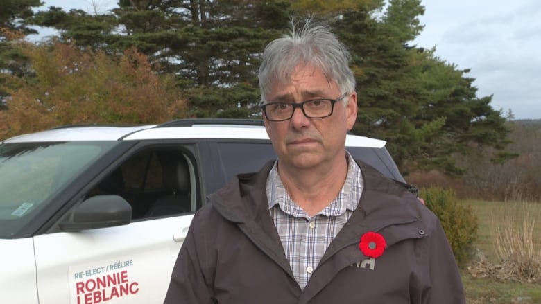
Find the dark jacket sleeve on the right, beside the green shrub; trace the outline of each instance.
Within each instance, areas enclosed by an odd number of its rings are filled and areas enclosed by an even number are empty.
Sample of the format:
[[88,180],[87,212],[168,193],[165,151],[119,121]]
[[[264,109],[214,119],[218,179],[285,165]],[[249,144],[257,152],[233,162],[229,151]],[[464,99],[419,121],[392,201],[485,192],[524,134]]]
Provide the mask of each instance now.
[[425,289],[421,303],[466,303],[461,274],[453,251],[439,220],[436,218],[435,221],[426,251],[429,288]]

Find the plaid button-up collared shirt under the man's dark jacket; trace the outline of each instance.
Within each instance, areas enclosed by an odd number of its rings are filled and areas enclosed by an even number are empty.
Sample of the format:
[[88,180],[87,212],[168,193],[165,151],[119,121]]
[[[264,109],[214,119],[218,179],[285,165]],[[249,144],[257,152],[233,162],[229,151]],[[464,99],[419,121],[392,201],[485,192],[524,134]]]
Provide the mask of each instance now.
[[361,168],[346,152],[347,177],[338,196],[322,211],[310,217],[287,193],[277,161],[268,173],[268,209],[284,246],[287,260],[301,289],[307,285],[332,240],[350,219],[363,191]]

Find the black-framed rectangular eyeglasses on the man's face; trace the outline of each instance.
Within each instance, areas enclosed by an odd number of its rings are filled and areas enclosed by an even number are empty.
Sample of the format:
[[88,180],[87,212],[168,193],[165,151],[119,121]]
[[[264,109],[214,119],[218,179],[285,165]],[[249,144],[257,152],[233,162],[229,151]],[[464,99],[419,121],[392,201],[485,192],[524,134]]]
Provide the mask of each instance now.
[[269,102],[261,105],[265,117],[269,121],[284,121],[293,117],[295,109],[300,107],[308,118],[325,118],[332,115],[334,104],[345,98],[345,94],[336,99],[319,98],[303,102]]

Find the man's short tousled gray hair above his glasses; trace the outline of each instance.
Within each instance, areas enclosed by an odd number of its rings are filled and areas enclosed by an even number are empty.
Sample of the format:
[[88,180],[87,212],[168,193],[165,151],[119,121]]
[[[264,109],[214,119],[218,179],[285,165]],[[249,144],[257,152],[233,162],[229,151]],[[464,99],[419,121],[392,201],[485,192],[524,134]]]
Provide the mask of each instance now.
[[[299,28],[291,21],[291,33],[270,42],[263,52],[259,66],[261,104],[276,82],[288,83],[295,67],[312,66],[323,71],[329,81],[338,84],[342,93],[355,89],[355,77],[350,69],[351,55],[336,35],[325,25],[311,24]],[[346,98],[347,100],[347,98]]]

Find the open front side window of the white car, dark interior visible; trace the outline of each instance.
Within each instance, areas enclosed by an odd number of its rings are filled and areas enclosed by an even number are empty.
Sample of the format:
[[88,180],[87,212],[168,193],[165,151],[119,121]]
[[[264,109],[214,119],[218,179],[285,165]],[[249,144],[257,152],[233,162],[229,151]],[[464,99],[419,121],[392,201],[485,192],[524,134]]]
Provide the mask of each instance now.
[[112,170],[89,196],[123,197],[132,206],[132,220],[189,213],[198,200],[194,168],[185,151],[146,149]]

